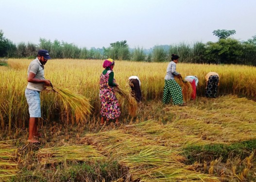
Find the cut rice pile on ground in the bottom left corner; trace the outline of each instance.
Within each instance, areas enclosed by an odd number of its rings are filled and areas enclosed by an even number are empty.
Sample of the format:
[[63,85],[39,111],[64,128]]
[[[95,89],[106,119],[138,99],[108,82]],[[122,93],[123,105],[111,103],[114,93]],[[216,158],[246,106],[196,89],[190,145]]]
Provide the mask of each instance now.
[[0,181],[16,175],[18,170],[17,148],[7,144],[8,141],[0,142]]

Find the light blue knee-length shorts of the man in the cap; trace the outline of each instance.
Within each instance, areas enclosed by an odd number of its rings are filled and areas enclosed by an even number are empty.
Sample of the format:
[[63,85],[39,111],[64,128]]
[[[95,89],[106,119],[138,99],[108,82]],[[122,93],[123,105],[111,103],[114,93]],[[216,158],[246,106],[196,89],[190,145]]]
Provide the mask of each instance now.
[[40,92],[26,88],[25,96],[29,104],[30,117],[41,117]]

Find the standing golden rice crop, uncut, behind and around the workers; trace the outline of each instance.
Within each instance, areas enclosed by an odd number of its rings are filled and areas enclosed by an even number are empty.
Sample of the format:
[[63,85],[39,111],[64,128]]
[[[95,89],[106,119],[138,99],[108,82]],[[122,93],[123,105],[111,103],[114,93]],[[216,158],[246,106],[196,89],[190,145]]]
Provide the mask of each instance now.
[[[24,97],[27,84],[27,67],[32,60],[9,59],[9,67],[0,67],[0,128],[6,130],[10,126],[18,128],[25,126],[28,119],[28,106]],[[128,89],[128,77],[137,75],[141,80],[141,90],[144,101],[161,100],[163,95],[164,77],[168,63],[137,63],[116,61],[114,67],[115,78],[121,88]],[[101,60],[50,60],[45,66],[45,77],[51,80],[55,87],[64,87],[91,99],[94,107],[93,116],[97,116],[99,103],[99,77],[102,73]],[[197,75],[199,84],[197,94],[205,93],[205,75],[209,71],[220,75],[220,94],[239,94],[249,98],[256,98],[256,68],[251,66],[230,65],[194,65],[177,64],[177,71],[183,77]],[[42,113],[46,122],[60,117],[67,120],[66,109],[55,95],[42,92]],[[122,112],[127,107],[121,97]],[[57,115],[57,116],[56,116]],[[69,120],[69,117],[68,117]],[[74,123],[74,118],[70,118]]]

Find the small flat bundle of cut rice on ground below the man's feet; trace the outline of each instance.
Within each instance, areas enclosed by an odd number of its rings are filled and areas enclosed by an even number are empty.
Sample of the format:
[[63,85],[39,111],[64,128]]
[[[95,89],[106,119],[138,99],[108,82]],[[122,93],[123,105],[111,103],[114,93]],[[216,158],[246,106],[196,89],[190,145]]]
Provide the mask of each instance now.
[[102,159],[102,155],[89,145],[68,145],[40,149],[38,151],[40,164],[53,164],[67,161],[91,161]]

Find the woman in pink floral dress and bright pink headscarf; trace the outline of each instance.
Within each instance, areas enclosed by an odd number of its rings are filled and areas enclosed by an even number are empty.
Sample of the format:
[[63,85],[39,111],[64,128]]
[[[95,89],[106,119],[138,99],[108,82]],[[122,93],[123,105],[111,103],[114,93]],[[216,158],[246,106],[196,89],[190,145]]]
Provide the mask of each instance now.
[[107,59],[102,66],[105,69],[100,77],[100,100],[102,104],[100,125],[104,125],[104,118],[106,118],[106,123],[109,119],[116,119],[115,124],[119,124],[120,107],[114,90],[115,87],[118,87],[113,72],[115,62],[113,59]]

